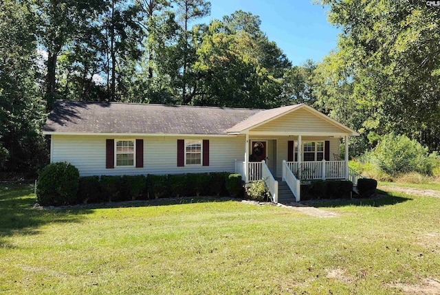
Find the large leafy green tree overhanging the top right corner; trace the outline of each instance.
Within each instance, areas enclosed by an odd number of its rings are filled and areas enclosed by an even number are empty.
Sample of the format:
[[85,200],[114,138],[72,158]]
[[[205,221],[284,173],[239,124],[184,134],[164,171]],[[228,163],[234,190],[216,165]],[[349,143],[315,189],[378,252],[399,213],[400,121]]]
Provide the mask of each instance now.
[[353,71],[353,99],[369,114],[361,128],[440,149],[440,11],[423,1],[321,3],[343,30],[341,67]]

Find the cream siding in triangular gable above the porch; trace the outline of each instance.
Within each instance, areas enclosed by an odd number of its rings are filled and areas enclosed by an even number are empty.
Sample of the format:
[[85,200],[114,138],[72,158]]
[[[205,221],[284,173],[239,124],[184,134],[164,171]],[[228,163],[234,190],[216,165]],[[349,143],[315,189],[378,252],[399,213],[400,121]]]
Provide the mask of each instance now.
[[254,129],[252,132],[329,132],[329,133],[342,133],[347,132],[340,129],[335,124],[324,120],[316,114],[307,111],[307,109],[298,109],[297,111],[292,111],[285,116],[281,116],[275,120],[267,122],[260,125]]

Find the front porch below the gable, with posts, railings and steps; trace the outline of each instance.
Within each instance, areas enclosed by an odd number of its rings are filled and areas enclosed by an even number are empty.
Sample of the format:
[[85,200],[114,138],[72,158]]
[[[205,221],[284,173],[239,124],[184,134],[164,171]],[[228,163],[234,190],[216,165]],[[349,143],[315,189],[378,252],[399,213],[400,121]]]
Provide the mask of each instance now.
[[287,186],[299,201],[300,184],[311,180],[348,179],[356,185],[360,175],[348,166],[348,149],[348,135],[245,135],[244,160],[235,160],[235,173],[246,183],[263,179],[275,202],[284,197],[279,186]]

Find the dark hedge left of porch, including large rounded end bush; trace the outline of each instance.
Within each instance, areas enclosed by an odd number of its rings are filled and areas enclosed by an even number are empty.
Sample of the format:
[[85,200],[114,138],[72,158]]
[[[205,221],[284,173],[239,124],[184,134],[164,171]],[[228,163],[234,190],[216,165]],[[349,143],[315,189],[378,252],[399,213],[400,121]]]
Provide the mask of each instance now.
[[36,188],[37,201],[43,206],[199,195],[243,197],[241,175],[221,172],[79,177],[75,166],[58,162],[43,168]]

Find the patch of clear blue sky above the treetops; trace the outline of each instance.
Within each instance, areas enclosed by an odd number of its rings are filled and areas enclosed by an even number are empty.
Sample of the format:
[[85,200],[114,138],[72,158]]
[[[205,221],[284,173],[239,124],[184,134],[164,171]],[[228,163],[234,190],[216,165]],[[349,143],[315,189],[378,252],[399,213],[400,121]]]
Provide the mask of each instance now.
[[[321,61],[336,48],[338,28],[327,22],[326,9],[310,0],[210,0],[211,14],[201,20],[221,19],[243,10],[258,15],[261,30],[287,55],[293,65],[307,58]],[[200,22],[197,21],[197,22]]]

